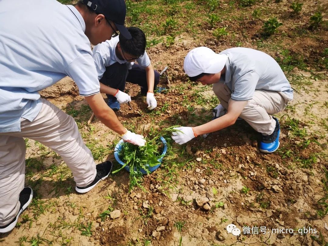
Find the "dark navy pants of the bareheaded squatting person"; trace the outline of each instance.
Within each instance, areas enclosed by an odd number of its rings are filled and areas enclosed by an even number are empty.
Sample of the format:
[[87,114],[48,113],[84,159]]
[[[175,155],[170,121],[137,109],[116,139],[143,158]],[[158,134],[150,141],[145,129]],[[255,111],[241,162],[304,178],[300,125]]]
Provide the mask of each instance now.
[[[154,70],[154,73],[155,80],[153,89],[156,90],[160,75],[156,70]],[[140,85],[142,94],[147,94],[148,91],[146,70],[138,64],[133,64],[132,69],[129,70],[128,63],[119,64],[116,62],[106,67],[106,71],[100,79],[100,82],[122,92],[125,89],[126,82]]]

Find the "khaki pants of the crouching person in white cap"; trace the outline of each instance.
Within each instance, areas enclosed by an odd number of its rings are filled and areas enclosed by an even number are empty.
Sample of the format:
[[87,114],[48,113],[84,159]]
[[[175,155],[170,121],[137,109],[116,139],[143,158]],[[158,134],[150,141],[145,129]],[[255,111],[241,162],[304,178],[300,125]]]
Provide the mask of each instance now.
[[[228,109],[228,102],[231,99],[231,91],[224,83],[213,84],[213,91],[220,100],[221,105]],[[255,90],[253,99],[248,100],[244,110],[239,115],[256,132],[263,135],[270,135],[276,127],[276,121],[269,114],[275,114],[282,111],[288,100],[282,95],[282,92]]]

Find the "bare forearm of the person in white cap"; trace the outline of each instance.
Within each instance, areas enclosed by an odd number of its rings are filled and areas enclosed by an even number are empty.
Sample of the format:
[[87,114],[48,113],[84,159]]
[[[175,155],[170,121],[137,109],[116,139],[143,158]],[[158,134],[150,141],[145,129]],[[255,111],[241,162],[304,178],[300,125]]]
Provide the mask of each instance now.
[[205,133],[212,133],[233,125],[235,121],[234,118],[226,114],[203,125],[193,127],[193,130],[197,136]]

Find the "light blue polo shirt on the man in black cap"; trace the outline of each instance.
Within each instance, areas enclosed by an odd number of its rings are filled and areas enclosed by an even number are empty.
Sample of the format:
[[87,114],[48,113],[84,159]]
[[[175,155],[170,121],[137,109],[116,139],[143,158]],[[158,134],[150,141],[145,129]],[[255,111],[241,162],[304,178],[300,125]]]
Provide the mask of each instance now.
[[65,76],[82,96],[100,92],[75,7],[56,0],[1,0],[0,23],[0,132],[20,131],[21,117],[32,121],[42,106],[38,91]]

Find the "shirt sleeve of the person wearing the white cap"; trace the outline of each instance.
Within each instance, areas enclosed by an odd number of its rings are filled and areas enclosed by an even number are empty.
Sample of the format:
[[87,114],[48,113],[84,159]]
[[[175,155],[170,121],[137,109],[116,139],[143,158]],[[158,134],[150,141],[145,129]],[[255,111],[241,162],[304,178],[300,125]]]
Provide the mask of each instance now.
[[231,99],[235,101],[247,101],[253,98],[259,75],[250,70],[241,75],[233,85]]

